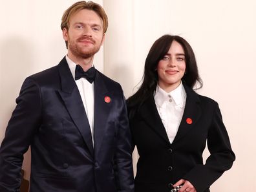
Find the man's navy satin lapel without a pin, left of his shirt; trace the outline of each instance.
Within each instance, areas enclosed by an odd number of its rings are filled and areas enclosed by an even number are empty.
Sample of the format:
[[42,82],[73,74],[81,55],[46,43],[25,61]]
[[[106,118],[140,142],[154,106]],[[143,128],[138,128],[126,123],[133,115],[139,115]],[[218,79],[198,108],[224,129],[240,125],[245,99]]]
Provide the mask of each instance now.
[[92,135],[90,125],[87,119],[85,109],[83,107],[83,101],[81,100],[80,92],[76,87],[76,82],[72,77],[69,69],[69,65],[65,58],[61,60],[58,65],[59,76],[61,78],[61,91],[59,95],[64,101],[67,111],[69,111],[70,117],[74,121],[76,127],[81,133],[83,140],[87,144],[91,155],[94,155],[92,146]]

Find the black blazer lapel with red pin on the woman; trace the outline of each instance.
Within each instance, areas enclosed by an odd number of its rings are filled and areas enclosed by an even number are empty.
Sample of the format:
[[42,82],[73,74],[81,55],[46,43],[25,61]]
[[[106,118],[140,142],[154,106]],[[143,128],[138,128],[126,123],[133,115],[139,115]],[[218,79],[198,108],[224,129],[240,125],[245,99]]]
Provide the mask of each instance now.
[[[186,134],[191,131],[191,129],[193,129],[194,125],[197,123],[197,120],[200,118],[202,113],[198,105],[198,103],[200,103],[198,95],[193,91],[193,89],[187,87],[186,85],[184,85],[184,88],[187,93],[186,106],[184,109],[182,120],[180,122],[180,126],[178,128],[178,133],[173,140],[173,144],[180,140],[180,138],[182,138],[183,136],[186,136]],[[192,122],[188,122],[189,119],[191,119]]]

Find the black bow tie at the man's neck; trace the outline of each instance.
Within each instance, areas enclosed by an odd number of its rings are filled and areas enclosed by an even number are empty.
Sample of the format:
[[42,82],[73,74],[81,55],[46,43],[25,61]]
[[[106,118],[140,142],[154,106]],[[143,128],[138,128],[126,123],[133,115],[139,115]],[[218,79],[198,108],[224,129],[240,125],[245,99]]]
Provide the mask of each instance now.
[[83,68],[80,65],[76,65],[76,72],[75,72],[75,80],[79,80],[80,78],[85,78],[87,81],[92,83],[95,80],[96,76],[96,69],[91,67],[87,71],[83,71]]

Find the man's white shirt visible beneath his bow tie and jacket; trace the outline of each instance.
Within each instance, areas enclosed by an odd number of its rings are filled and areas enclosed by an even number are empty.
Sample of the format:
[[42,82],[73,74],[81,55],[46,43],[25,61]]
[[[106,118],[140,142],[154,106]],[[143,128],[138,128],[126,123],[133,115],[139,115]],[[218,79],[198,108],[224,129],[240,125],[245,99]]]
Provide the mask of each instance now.
[[[72,73],[73,78],[75,78],[76,63],[74,63],[68,56],[66,56],[69,69]],[[91,127],[92,133],[92,144],[94,144],[94,82],[89,83],[85,78],[80,78],[75,80],[78,90],[80,92],[81,100],[83,101],[83,107],[85,107],[85,112],[87,114],[87,119]]]

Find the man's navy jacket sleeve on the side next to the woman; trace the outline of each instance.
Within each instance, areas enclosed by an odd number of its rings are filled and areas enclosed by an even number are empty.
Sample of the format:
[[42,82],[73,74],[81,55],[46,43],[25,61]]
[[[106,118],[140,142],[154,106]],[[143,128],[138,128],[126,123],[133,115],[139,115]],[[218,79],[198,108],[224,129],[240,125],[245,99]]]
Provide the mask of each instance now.
[[115,179],[118,192],[133,192],[132,142],[127,107],[122,94],[122,110],[118,118],[117,151],[114,156]]

